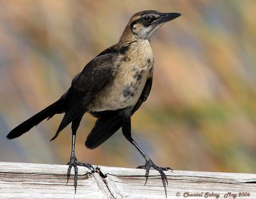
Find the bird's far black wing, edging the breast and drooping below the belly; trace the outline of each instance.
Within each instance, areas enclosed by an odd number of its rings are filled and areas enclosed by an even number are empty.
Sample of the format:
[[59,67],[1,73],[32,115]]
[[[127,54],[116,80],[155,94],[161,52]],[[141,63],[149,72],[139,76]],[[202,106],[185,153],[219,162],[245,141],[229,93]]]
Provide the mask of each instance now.
[[[147,82],[140,95],[140,99],[133,107],[131,115],[133,115],[133,113],[138,110],[141,104],[147,100],[151,87],[152,77],[147,79]],[[85,146],[87,148],[93,149],[99,147],[99,145],[104,143],[104,141],[106,141],[108,138],[110,138],[110,136],[118,131],[118,129],[120,129],[122,126],[122,117],[118,115],[119,111],[121,110],[102,111],[101,113],[97,114],[97,121],[85,141]]]

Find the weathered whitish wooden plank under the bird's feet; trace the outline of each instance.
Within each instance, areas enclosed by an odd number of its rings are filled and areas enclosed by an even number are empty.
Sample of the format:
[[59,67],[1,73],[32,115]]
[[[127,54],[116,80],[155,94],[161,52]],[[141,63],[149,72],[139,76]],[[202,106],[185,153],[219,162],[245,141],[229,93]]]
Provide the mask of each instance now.
[[214,193],[207,198],[256,198],[255,174],[166,171],[164,187],[154,170],[145,184],[144,170],[100,166],[91,174],[79,167],[75,195],[73,178],[66,185],[66,173],[66,165],[0,163],[0,198],[205,198],[207,193]]

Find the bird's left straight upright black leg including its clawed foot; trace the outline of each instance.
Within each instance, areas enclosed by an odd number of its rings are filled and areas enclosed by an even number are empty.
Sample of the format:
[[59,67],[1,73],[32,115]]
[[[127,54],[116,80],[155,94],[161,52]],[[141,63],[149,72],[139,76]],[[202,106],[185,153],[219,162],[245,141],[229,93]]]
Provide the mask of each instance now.
[[82,117],[83,117],[83,115],[79,115],[79,116],[77,116],[77,118],[75,120],[72,121],[72,126],[71,126],[71,129],[72,129],[72,149],[71,149],[70,161],[67,163],[67,165],[68,165],[68,171],[67,171],[68,179],[67,179],[67,182],[70,178],[70,173],[71,173],[72,167],[74,167],[74,170],[75,170],[75,175],[74,175],[75,192],[76,192],[76,187],[77,187],[77,174],[78,174],[77,166],[85,166],[89,170],[94,171],[94,168],[91,164],[78,162],[77,159],[76,159],[76,155],[75,155],[76,131],[79,127],[79,124],[81,122]]

